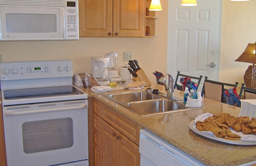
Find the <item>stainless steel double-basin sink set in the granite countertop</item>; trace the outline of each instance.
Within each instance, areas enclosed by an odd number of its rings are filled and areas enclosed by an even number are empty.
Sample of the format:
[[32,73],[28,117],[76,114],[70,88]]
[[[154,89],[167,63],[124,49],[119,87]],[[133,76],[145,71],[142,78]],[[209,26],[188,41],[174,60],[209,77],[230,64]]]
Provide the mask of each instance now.
[[136,112],[141,116],[164,114],[198,108],[186,108],[181,102],[175,102],[161,95],[145,91],[108,93],[103,96]]

